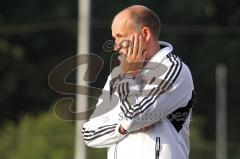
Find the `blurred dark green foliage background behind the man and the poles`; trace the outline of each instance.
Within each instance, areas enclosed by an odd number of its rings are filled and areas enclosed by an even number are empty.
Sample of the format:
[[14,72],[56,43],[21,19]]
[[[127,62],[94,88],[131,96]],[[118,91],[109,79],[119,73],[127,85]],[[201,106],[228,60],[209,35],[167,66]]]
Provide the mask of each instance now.
[[[111,40],[111,20],[133,4],[146,5],[159,15],[160,40],[170,42],[192,71],[197,94],[191,159],[215,158],[215,67],[219,62],[227,65],[227,152],[228,159],[239,159],[240,1],[92,0],[90,52],[105,61],[92,86],[102,88],[109,73],[110,56],[102,45]],[[77,17],[77,0],[1,1],[1,159],[73,158],[75,123],[53,113],[55,102],[68,95],[53,91],[48,75],[76,54]],[[75,73],[68,80],[76,82]],[[105,149],[88,152],[88,159],[106,158]]]

